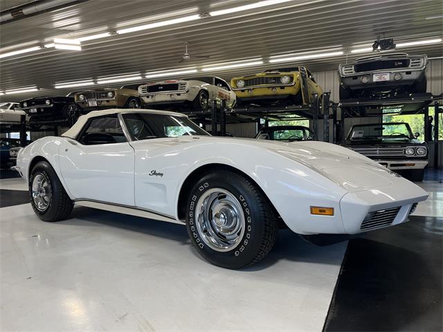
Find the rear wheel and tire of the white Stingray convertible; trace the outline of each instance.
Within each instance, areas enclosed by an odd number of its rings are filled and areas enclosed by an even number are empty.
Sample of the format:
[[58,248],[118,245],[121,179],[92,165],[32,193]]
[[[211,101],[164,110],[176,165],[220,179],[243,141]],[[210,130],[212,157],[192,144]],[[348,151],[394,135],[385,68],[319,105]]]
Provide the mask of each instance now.
[[43,221],[60,221],[74,207],[53,167],[39,161],[30,173],[29,196],[35,214]]

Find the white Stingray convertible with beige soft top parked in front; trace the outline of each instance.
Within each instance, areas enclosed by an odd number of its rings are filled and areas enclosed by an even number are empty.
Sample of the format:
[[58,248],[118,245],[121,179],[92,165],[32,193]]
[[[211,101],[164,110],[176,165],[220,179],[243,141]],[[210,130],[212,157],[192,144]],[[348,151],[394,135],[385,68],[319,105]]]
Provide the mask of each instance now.
[[212,137],[179,113],[110,109],[21,149],[15,168],[44,221],[74,205],[186,225],[226,268],[264,258],[293,232],[358,234],[408,220],[428,194],[378,163],[325,142]]

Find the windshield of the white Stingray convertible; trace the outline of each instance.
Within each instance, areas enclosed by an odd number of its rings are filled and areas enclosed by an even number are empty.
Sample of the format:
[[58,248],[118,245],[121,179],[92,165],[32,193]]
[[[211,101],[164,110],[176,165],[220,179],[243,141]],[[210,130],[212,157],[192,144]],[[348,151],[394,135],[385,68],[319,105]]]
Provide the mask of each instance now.
[[150,113],[123,114],[129,133],[134,140],[178,136],[210,136],[197,124],[183,116]]

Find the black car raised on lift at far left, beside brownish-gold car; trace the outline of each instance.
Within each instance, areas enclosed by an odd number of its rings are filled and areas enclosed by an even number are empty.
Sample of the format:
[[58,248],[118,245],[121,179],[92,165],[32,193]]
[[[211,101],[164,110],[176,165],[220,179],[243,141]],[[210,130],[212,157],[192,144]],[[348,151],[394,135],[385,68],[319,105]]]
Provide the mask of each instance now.
[[28,114],[30,126],[57,124],[71,127],[82,114],[82,108],[75,103],[74,94],[21,100],[20,109]]

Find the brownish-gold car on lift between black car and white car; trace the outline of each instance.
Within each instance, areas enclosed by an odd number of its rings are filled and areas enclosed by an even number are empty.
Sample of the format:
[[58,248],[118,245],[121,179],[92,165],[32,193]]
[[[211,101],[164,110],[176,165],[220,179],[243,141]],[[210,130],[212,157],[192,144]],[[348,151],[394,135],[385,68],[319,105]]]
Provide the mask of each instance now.
[[75,93],[75,102],[84,111],[89,112],[97,109],[139,109],[141,100],[138,96],[138,85],[124,85],[118,89],[101,88],[79,91]]

